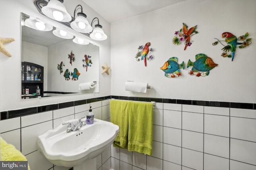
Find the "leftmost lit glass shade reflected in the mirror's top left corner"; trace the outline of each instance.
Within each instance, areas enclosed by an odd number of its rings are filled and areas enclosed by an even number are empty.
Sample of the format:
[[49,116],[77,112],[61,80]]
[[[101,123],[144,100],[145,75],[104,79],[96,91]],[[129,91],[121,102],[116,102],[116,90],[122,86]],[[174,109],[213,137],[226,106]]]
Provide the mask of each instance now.
[[25,26],[39,30],[39,31],[51,31],[52,25],[44,23],[36,18],[28,18],[25,20]]

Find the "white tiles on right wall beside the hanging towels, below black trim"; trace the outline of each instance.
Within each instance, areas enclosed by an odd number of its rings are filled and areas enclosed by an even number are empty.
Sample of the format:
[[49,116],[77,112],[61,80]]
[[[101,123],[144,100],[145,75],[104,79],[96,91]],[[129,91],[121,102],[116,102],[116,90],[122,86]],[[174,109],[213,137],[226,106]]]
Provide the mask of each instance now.
[[114,170],[256,170],[255,109],[158,102],[153,116],[153,155],[111,147]]

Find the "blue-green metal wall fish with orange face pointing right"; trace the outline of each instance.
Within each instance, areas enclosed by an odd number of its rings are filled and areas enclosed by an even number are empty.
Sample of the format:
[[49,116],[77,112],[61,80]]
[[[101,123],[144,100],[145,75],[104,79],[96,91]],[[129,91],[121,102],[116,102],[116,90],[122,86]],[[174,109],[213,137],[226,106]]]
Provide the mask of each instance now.
[[[188,60],[187,68],[190,66],[193,66],[193,67],[188,72],[188,74],[196,75],[197,77],[199,77],[199,76],[208,76],[210,73],[210,70],[212,70],[212,68],[214,68],[215,66],[218,66],[218,64],[214,63],[212,59],[205,54],[197,54],[195,62]],[[196,74],[194,74],[194,72]]]

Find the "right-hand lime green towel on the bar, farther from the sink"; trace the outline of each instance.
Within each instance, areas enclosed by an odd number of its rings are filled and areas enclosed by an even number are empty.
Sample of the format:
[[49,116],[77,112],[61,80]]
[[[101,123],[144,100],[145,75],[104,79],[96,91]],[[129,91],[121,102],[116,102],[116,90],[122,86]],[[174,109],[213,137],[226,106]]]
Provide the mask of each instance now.
[[131,102],[128,108],[128,150],[152,155],[152,103]]

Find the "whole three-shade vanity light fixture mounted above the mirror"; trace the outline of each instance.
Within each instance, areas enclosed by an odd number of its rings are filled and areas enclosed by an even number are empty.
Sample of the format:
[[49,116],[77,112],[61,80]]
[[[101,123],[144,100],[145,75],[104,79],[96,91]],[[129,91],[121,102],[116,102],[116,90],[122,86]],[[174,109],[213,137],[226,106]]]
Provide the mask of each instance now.
[[[68,14],[66,7],[62,3],[63,0],[49,0],[48,2],[45,0],[34,0],[34,4],[41,14],[48,16],[49,18],[56,20],[94,40],[102,41],[107,39],[107,35],[104,33],[102,25],[100,25],[97,17],[92,20],[90,25],[80,4],[76,6],[74,10],[74,17],[72,17]],[[81,12],[77,13],[78,10],[81,10]],[[93,29],[92,24],[95,20],[98,21],[98,24],[94,25],[95,28]]]

